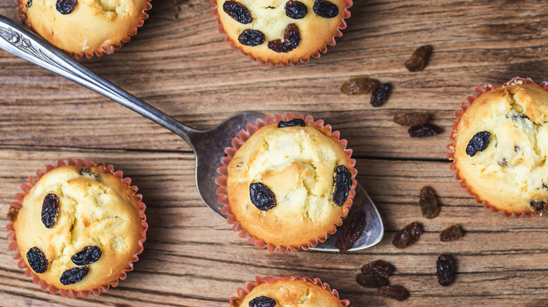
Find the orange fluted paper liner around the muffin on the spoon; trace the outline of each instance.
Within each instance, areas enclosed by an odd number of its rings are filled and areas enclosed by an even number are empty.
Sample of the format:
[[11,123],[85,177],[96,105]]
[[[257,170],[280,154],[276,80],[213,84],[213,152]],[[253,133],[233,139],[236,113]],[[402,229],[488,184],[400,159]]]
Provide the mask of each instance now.
[[240,130],[240,132],[238,132],[238,136],[232,139],[232,147],[227,147],[225,149],[226,156],[221,158],[221,163],[223,163],[223,166],[217,169],[217,172],[221,174],[221,176],[215,179],[216,184],[219,185],[218,189],[216,190],[216,194],[219,196],[218,203],[221,205],[224,205],[223,209],[221,210],[221,213],[228,216],[226,218],[226,221],[228,224],[233,225],[232,227],[233,231],[239,232],[240,238],[248,238],[247,243],[255,245],[255,247],[259,250],[266,247],[268,252],[275,252],[275,250],[278,250],[280,254],[283,254],[287,252],[288,250],[292,252],[297,252],[300,249],[308,250],[308,248],[310,247],[315,247],[316,245],[318,245],[318,243],[325,242],[327,238],[329,238],[333,233],[337,231],[337,228],[335,228],[335,231],[333,232],[325,233],[325,238],[315,238],[314,240],[309,241],[306,245],[299,245],[298,247],[276,246],[270,243],[266,243],[263,240],[254,238],[242,228],[242,226],[240,225],[240,222],[236,220],[235,216],[230,211],[230,204],[228,203],[228,196],[226,193],[226,178],[228,176],[227,168],[228,168],[228,163],[230,163],[236,151],[240,149],[242,144],[244,144],[244,142],[247,141],[247,139],[249,139],[249,137],[251,137],[257,130],[259,130],[260,128],[266,125],[269,125],[270,123],[278,123],[280,121],[291,121],[294,118],[304,119],[307,125],[313,124],[325,135],[334,137],[335,139],[337,139],[339,144],[343,146],[344,152],[348,156],[348,162],[351,165],[350,173],[352,175],[351,177],[352,186],[351,186],[350,192],[348,193],[348,198],[346,198],[346,201],[344,202],[344,205],[343,205],[344,208],[346,208],[346,210],[343,210],[343,211],[346,211],[346,212],[344,212],[343,215],[339,215],[339,220],[336,223],[334,223],[335,226],[341,226],[343,219],[346,218],[352,206],[353,198],[355,196],[355,186],[357,184],[355,180],[355,176],[358,173],[358,171],[354,167],[355,160],[351,158],[352,149],[346,148],[346,144],[347,144],[346,139],[341,139],[339,131],[332,131],[331,125],[324,125],[324,121],[321,119],[318,121],[314,121],[314,118],[310,115],[307,115],[306,117],[304,117],[302,114],[296,114],[295,116],[292,116],[291,113],[287,112],[285,116],[282,116],[281,114],[275,114],[274,116],[268,115],[266,116],[264,121],[261,118],[257,119],[255,125],[247,124],[245,127],[246,130]]

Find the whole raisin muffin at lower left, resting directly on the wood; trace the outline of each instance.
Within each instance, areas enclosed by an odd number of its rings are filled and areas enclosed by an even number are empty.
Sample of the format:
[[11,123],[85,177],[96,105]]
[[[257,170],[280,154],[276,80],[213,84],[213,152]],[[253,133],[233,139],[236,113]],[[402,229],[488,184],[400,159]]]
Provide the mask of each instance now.
[[98,294],[125,278],[143,250],[147,224],[141,196],[121,172],[78,164],[46,172],[8,218],[22,261],[40,280],[64,292]]

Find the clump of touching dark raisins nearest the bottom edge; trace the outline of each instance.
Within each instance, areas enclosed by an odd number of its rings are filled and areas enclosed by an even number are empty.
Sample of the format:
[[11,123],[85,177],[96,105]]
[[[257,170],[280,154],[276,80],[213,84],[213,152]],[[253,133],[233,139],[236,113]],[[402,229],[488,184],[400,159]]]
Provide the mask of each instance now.
[[409,292],[402,286],[389,285],[389,276],[395,270],[396,268],[387,261],[372,261],[362,267],[362,273],[355,277],[355,281],[362,287],[379,288],[381,296],[403,301],[409,297]]

